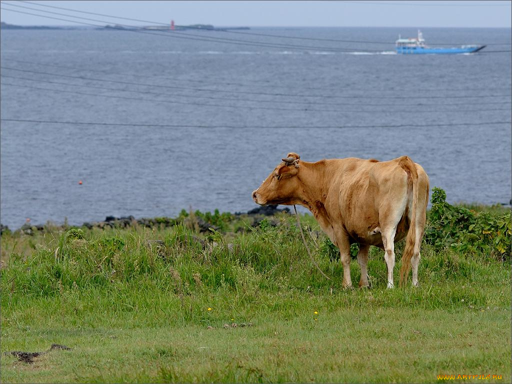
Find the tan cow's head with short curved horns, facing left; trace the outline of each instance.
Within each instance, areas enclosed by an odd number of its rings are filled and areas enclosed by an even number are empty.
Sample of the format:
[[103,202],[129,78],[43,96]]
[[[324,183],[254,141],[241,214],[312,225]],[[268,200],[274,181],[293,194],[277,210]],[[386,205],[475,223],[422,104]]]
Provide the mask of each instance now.
[[296,177],[301,157],[296,153],[289,153],[286,159],[272,171],[260,187],[253,191],[252,200],[260,205],[267,204],[295,204],[299,181]]

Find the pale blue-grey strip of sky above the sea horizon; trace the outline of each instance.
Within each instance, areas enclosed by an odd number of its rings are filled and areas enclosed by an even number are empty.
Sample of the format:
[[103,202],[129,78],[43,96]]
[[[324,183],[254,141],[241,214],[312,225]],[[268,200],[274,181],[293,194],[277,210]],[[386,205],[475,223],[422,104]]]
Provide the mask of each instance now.
[[[14,0],[1,2],[5,8],[23,12],[29,8],[67,13]],[[249,27],[507,27],[512,26],[510,1],[34,1],[32,3],[112,14],[116,16],[177,25],[213,24]],[[401,4],[400,4],[401,3]],[[42,13],[40,13],[42,14]],[[74,13],[77,16],[116,20]],[[67,18],[66,16],[45,15]],[[73,25],[72,23],[2,10],[3,22],[17,25]],[[87,20],[82,20],[87,22]],[[130,25],[147,23],[117,20]],[[94,23],[94,22],[91,22]]]

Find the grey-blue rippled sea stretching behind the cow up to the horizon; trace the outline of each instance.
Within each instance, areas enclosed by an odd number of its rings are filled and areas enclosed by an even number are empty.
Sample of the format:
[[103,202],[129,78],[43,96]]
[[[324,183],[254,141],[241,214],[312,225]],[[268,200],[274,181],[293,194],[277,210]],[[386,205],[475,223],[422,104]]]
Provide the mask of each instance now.
[[511,56],[488,51],[510,50],[510,29],[424,28],[433,46],[489,45],[412,56],[393,45],[411,28],[241,32],[309,39],[3,30],[2,224],[245,211],[288,152],[408,155],[450,202],[509,202]]

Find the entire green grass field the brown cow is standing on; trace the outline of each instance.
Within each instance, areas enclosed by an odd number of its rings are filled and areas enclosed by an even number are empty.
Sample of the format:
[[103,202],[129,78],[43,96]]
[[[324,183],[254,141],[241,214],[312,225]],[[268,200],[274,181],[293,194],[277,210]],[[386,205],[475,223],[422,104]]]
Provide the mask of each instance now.
[[[424,244],[420,286],[389,290],[375,248],[372,288],[343,290],[341,263],[302,219],[331,281],[286,215],[207,236],[186,222],[3,234],[0,350],[71,350],[2,355],[0,380],[510,382],[509,260]],[[490,379],[438,380],[459,374]]]

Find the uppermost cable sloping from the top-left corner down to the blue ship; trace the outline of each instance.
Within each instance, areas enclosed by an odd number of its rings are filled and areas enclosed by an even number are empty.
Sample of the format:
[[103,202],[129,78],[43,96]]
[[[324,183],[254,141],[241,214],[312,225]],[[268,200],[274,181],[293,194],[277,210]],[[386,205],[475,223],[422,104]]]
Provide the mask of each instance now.
[[[80,10],[71,9],[71,8],[55,7],[55,6],[50,6],[50,5],[37,4],[37,3],[23,1],[23,0],[18,0],[18,1],[20,3],[27,3],[27,4],[32,4],[32,5],[40,6],[40,7],[49,7],[49,8],[55,8],[55,9],[62,9],[62,10],[66,10],[66,11],[77,12],[77,13],[87,13],[87,14],[96,15],[96,16],[104,16],[104,17],[118,18],[118,19],[123,19],[123,20],[131,20],[131,21],[134,21],[134,22],[151,23],[151,24],[156,24],[156,25],[169,26],[168,23],[160,23],[160,22],[154,22],[154,21],[149,21],[149,20],[141,20],[141,19],[135,19],[135,18],[130,18],[130,17],[106,15],[106,14],[103,14],[103,13],[80,11]],[[5,4],[10,4],[10,3],[5,3]],[[176,27],[187,28],[187,29],[197,29],[197,30],[202,30],[202,31],[205,30],[205,28],[193,27],[193,26],[176,25]],[[267,34],[267,33],[230,31],[230,30],[225,30],[225,29],[222,29],[222,28],[216,28],[214,30],[208,30],[208,31],[216,31],[216,32],[224,32],[224,33],[234,33],[234,34],[243,34],[243,35],[254,35],[254,36],[279,37],[279,38],[288,38],[288,39],[316,40],[316,41],[333,41],[333,42],[350,42],[350,43],[356,43],[356,44],[361,44],[361,43],[363,43],[363,44],[380,44],[380,45],[394,44],[393,42],[390,42],[390,41],[342,40],[342,39],[327,39],[327,38],[314,38],[314,37],[302,37],[302,36],[284,36],[284,35],[274,35],[274,34]],[[462,44],[456,44],[456,43],[438,43],[438,42],[432,42],[431,44],[435,44],[435,45],[462,45]],[[486,44],[486,45],[487,46],[490,46],[490,45],[510,45],[510,43],[509,42],[507,42],[507,43],[489,43],[489,44]]]

